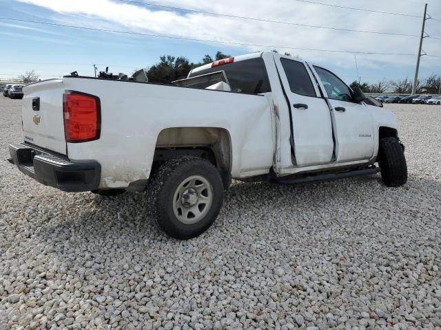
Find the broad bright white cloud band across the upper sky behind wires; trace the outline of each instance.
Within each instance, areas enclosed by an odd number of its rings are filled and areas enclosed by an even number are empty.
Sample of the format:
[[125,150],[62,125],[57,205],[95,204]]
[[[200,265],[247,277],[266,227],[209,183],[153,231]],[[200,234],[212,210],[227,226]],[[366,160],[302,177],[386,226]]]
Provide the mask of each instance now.
[[[38,5],[58,13],[52,19],[61,23],[161,34],[179,38],[245,43],[249,44],[246,48],[250,52],[271,50],[275,46],[287,46],[277,48],[280,52],[298,54],[306,60],[331,63],[340,67],[353,67],[353,54],[295,50],[290,47],[411,54],[416,54],[418,51],[418,38],[410,36],[387,36],[305,28],[295,25],[236,19],[196,12],[166,10],[164,8],[137,5],[123,1],[18,1]],[[344,10],[341,8],[310,5],[294,0],[279,0],[277,3],[274,3],[274,1],[260,1],[258,5],[256,5],[254,0],[164,0],[161,1],[161,4],[243,17],[260,17],[274,21],[400,34],[418,34],[421,24],[420,19],[412,17]],[[347,3],[342,1],[337,1],[337,4],[347,5]],[[398,0],[383,1],[380,6],[382,11],[419,14],[419,10],[416,12],[416,8],[422,10],[422,5],[402,3]],[[378,6],[373,9],[378,9]],[[439,14],[441,18],[441,11],[439,9],[438,12],[435,12],[435,9],[433,9],[433,17],[435,17],[435,14]],[[428,22],[427,29],[433,36],[441,36],[441,24]],[[213,45],[216,42],[209,44]],[[219,43],[219,45],[222,44]],[[270,47],[263,47],[261,45],[269,45]],[[229,47],[234,47],[234,45],[229,45]],[[424,50],[429,54],[441,56],[441,41],[425,39]],[[359,54],[357,59],[359,65],[378,67],[384,64],[413,65],[416,56]],[[432,63],[434,60],[427,58],[427,61]]]

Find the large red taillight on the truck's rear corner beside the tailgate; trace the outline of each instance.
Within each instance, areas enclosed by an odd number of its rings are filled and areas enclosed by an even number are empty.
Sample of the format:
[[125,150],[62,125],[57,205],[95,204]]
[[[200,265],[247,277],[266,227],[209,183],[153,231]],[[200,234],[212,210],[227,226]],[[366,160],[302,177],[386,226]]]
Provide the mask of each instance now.
[[99,98],[78,91],[63,94],[66,142],[86,142],[99,138],[101,109]]

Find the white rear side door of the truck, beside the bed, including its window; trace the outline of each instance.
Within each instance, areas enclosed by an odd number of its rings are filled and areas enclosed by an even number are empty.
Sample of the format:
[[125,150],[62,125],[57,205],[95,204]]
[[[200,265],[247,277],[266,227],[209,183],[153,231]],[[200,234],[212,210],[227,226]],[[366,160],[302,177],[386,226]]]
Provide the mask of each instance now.
[[334,154],[331,114],[313,83],[314,76],[302,61],[283,56],[274,59],[290,109],[294,165],[331,162]]

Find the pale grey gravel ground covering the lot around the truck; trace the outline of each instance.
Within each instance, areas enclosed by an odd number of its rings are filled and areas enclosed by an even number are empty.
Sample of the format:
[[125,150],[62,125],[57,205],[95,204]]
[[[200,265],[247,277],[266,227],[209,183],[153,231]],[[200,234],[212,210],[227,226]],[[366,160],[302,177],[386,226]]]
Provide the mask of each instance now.
[[441,329],[441,107],[390,107],[406,186],[235,184],[176,241],[142,194],[68,194],[3,162],[21,100],[0,97],[0,330]]

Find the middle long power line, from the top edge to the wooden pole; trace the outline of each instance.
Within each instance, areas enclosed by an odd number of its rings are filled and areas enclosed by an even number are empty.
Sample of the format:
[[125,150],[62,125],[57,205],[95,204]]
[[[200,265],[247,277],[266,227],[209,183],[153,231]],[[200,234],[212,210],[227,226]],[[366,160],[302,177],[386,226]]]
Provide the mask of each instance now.
[[292,22],[285,22],[285,21],[273,21],[270,19],[258,19],[256,17],[245,17],[245,16],[237,16],[237,15],[232,15],[232,14],[220,14],[218,12],[206,12],[203,10],[194,10],[194,9],[189,9],[189,8],[172,7],[170,5],[158,5],[156,3],[133,1],[133,0],[119,0],[119,1],[126,2],[126,3],[137,3],[140,5],[149,5],[149,6],[158,7],[158,8],[167,8],[167,9],[172,9],[172,10],[184,10],[186,12],[197,12],[199,14],[209,14],[209,15],[215,15],[215,16],[230,17],[230,18],[234,18],[234,19],[247,19],[250,21],[261,21],[261,22],[277,23],[277,24],[285,24],[285,25],[296,25],[296,26],[302,26],[305,28],[316,28],[316,29],[345,31],[345,32],[357,32],[357,33],[370,33],[370,34],[385,34],[385,35],[390,35],[390,36],[418,36],[417,34],[402,34],[402,33],[367,31],[367,30],[351,30],[351,29],[343,29],[343,28],[330,28],[330,27],[321,26],[321,25],[310,25],[310,24],[292,23]]

